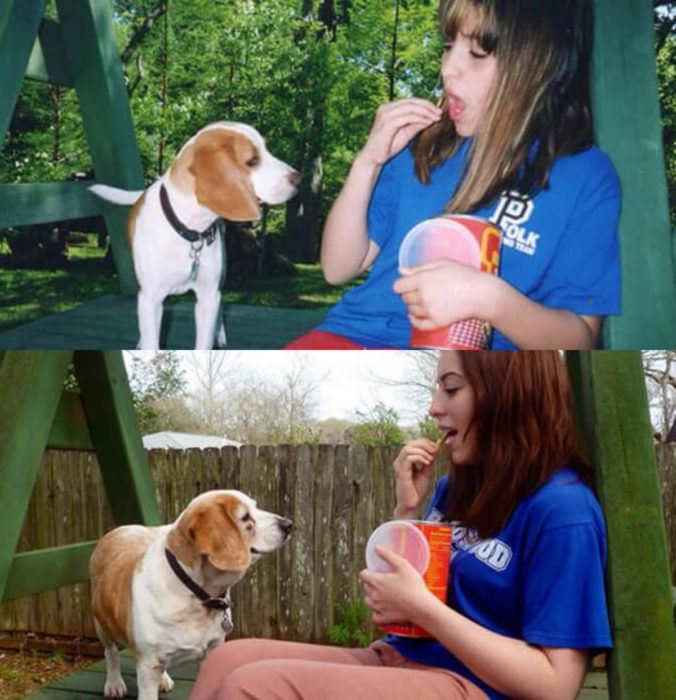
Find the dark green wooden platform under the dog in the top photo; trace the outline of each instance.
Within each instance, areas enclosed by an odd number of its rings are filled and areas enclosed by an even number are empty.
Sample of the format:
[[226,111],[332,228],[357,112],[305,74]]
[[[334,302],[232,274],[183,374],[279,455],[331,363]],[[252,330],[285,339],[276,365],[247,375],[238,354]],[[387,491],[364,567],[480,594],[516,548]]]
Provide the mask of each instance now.
[[[228,349],[281,348],[317,325],[324,311],[262,306],[224,306]],[[161,346],[194,347],[194,302],[165,302]],[[138,342],[136,297],[108,295],[68,311],[0,332],[0,350],[130,350]]]

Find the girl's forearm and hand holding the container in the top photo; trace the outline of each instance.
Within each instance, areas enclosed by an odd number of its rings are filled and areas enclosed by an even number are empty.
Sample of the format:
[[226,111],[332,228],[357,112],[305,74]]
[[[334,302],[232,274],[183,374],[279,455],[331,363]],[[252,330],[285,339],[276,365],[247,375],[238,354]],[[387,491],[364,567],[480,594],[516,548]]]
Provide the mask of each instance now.
[[524,350],[592,349],[601,326],[601,317],[543,306],[499,277],[453,260],[410,268],[394,291],[416,328],[480,318]]

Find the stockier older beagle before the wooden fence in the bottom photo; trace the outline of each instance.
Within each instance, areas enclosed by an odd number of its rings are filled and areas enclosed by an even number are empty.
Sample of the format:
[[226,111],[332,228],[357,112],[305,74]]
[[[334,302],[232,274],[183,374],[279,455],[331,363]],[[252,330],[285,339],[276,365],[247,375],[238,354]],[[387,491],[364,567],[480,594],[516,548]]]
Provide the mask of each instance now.
[[89,570],[105,696],[127,692],[119,647],[136,655],[141,700],[171,690],[167,669],[201,659],[225,639],[232,629],[230,588],[290,532],[289,519],[260,510],[240,491],[207,491],[174,523],[124,525],[104,535]]

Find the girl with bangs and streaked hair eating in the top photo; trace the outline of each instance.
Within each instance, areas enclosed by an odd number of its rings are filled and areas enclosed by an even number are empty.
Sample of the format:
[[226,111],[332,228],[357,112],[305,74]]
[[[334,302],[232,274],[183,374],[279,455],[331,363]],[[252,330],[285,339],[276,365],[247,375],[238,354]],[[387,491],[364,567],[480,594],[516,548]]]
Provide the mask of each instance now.
[[[591,0],[446,0],[443,98],[381,105],[326,221],[324,276],[370,270],[287,347],[407,347],[481,318],[492,348],[593,348],[620,309],[619,184],[593,141]],[[468,213],[502,230],[499,275],[398,271],[405,234]],[[402,274],[403,276],[400,276]]]

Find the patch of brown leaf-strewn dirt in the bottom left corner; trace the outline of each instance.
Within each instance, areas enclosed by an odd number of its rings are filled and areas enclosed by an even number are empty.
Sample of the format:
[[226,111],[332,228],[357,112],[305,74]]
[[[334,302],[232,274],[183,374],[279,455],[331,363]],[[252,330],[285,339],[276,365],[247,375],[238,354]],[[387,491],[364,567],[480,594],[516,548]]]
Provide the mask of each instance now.
[[64,656],[60,652],[0,649],[0,700],[21,698],[93,661],[91,657]]

